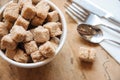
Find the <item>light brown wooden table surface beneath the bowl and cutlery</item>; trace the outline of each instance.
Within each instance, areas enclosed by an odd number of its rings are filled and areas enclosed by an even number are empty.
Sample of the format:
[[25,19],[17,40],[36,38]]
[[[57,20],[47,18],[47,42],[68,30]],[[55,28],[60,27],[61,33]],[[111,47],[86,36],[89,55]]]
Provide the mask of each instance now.
[[[62,50],[52,62],[34,69],[19,68],[0,58],[0,80],[120,80],[120,65],[99,45],[88,43],[79,37],[77,24],[65,13],[65,0],[52,2],[62,10],[67,21],[67,39]],[[80,62],[79,47],[97,50],[93,64]]]

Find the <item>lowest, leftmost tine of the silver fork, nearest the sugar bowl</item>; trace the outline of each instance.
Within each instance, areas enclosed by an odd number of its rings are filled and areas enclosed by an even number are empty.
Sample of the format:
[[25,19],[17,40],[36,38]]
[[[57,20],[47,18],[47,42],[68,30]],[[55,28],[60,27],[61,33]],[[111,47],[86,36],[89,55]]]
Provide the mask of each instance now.
[[71,14],[73,14],[74,16],[76,16],[79,20],[85,21],[85,17],[83,15],[81,15],[81,14],[78,14],[69,5],[65,5],[64,7],[66,8],[67,11],[69,11]]

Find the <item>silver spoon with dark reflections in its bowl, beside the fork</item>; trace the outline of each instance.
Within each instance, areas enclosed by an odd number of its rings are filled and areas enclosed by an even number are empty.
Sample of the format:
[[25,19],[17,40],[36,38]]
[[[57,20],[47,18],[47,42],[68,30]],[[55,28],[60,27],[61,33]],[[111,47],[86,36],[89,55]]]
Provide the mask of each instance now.
[[77,27],[77,31],[83,39],[85,39],[89,42],[100,43],[104,40],[108,40],[108,41],[112,41],[120,46],[119,42],[116,42],[116,41],[113,41],[110,39],[105,39],[103,36],[102,30],[100,28],[98,28],[97,26],[92,26],[92,25],[88,25],[88,24],[80,24]]

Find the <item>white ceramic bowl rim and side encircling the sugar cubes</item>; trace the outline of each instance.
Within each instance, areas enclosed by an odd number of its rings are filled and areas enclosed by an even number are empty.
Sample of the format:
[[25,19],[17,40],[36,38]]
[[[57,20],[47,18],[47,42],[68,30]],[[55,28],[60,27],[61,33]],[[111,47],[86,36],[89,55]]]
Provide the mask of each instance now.
[[[65,39],[66,39],[66,34],[67,34],[66,20],[65,20],[65,17],[63,15],[63,13],[60,11],[60,9],[55,4],[53,4],[49,0],[46,0],[46,1],[49,3],[50,6],[52,6],[55,10],[58,11],[58,13],[60,15],[61,22],[62,22],[62,31],[63,31],[63,34],[61,35],[61,38],[60,38],[60,44],[59,44],[58,48],[56,49],[56,54],[55,54],[55,56],[56,56],[59,53],[59,51],[61,50],[61,48],[62,48],[62,46],[63,46],[63,44],[65,42]],[[0,12],[3,11],[3,9],[4,9],[5,6],[3,6],[0,9]],[[9,59],[1,50],[0,50],[0,56],[4,60],[6,60],[7,62],[9,62],[10,64],[13,64],[13,65],[18,66],[18,67],[23,67],[23,68],[35,68],[35,67],[43,66],[43,65],[49,63],[55,57],[54,56],[52,58],[49,58],[49,59],[46,59],[44,61],[37,62],[37,63],[19,63],[19,62],[16,62],[16,61],[13,61],[13,60]]]

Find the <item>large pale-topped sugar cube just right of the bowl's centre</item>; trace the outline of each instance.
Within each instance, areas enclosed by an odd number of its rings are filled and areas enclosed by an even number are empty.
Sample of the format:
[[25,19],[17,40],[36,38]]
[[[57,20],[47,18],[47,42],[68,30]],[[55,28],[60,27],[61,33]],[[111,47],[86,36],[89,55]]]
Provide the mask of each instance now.
[[50,39],[49,31],[42,26],[38,26],[37,28],[31,30],[31,32],[37,43],[44,43]]

